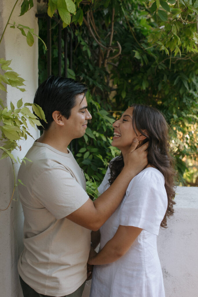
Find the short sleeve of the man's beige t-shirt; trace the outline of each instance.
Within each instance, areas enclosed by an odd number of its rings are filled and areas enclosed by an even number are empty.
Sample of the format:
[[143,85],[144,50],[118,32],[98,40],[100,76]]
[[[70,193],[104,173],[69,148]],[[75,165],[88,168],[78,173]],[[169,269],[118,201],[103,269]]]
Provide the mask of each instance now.
[[33,186],[33,197],[61,219],[80,208],[89,196],[71,173],[63,167],[53,167],[40,174]]

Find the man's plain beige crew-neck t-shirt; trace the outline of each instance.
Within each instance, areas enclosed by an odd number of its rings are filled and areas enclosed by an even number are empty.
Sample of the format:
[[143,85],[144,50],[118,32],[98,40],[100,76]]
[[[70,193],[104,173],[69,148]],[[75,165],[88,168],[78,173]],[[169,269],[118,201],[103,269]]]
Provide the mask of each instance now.
[[[69,151],[69,150],[68,150]],[[21,278],[38,293],[64,296],[86,279],[90,230],[66,218],[87,200],[84,173],[72,153],[34,142],[18,178],[24,212]]]

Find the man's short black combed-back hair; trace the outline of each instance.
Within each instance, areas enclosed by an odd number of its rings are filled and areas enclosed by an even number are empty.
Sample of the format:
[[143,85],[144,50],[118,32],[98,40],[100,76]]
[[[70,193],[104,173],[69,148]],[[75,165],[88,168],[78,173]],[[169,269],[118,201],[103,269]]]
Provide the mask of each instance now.
[[86,94],[87,86],[72,78],[53,76],[45,80],[37,89],[34,103],[38,104],[45,113],[45,121],[40,120],[39,130],[48,129],[53,122],[52,113],[60,111],[61,115],[69,119],[71,109],[76,105],[76,95]]

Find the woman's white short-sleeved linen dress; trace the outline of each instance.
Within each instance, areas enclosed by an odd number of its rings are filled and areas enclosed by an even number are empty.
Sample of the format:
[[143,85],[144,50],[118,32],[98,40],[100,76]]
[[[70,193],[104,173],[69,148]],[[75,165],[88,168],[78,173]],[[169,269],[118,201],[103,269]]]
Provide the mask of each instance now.
[[[110,169],[99,186],[108,187]],[[123,201],[100,228],[100,249],[119,225],[142,228],[128,252],[117,261],[94,266],[90,297],[164,297],[156,238],[167,210],[164,176],[155,168],[145,168],[130,182]]]

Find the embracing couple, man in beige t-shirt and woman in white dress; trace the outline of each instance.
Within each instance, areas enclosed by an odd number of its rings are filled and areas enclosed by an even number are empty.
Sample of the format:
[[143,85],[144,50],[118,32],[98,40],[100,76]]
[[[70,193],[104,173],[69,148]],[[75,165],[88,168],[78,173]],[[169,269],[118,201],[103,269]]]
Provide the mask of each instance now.
[[[86,91],[75,80],[50,76],[34,97],[47,124],[42,121],[43,134],[26,154],[33,162],[22,163],[18,173],[25,184],[18,187],[23,295],[80,297],[88,260],[96,265],[92,297],[164,296],[156,235],[174,203],[166,121],[142,105],[123,113],[113,124],[112,142],[121,156],[110,162],[101,195],[92,202],[84,173],[67,149],[91,119]],[[94,246],[100,240],[98,254],[90,251],[91,237]]]

